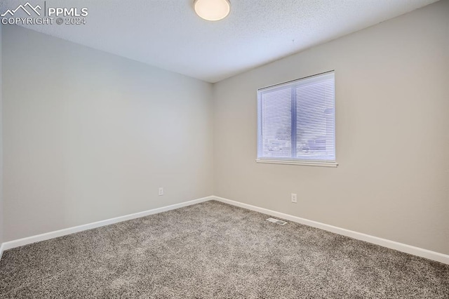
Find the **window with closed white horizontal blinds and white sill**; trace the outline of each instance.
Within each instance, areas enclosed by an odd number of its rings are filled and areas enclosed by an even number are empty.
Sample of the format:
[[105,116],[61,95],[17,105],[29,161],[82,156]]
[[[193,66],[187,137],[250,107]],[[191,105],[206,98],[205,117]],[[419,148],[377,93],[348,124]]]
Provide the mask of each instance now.
[[337,166],[334,72],[259,89],[257,115],[258,162]]

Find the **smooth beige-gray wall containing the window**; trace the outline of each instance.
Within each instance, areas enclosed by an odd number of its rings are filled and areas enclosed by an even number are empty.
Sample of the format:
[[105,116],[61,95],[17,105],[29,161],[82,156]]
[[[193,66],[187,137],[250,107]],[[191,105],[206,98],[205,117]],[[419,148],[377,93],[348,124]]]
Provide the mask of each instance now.
[[[215,195],[449,254],[448,15],[440,1],[215,84]],[[340,166],[257,164],[257,88],[331,69]]]

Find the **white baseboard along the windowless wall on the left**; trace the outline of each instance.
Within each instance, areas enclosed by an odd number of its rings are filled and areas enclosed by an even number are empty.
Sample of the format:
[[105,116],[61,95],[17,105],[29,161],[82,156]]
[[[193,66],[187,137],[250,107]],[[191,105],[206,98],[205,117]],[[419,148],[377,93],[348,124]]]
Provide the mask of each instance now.
[[156,214],[156,213],[170,211],[170,210],[174,210],[175,208],[182,208],[184,206],[191,206],[192,204],[199,204],[199,203],[201,203],[203,201],[210,201],[211,199],[213,199],[213,197],[203,197],[201,199],[194,199],[192,201],[185,201],[185,202],[182,202],[180,204],[173,204],[171,206],[163,206],[161,208],[154,208],[154,209],[148,210],[148,211],[143,211],[143,212],[129,214],[129,215],[123,215],[123,216],[119,216],[119,217],[116,217],[116,218],[111,218],[111,219],[107,219],[107,220],[101,220],[101,221],[98,221],[98,222],[88,223],[86,225],[79,225],[79,226],[76,226],[76,227],[69,227],[69,228],[65,228],[63,230],[56,230],[55,232],[46,232],[45,234],[37,234],[36,236],[32,236],[32,237],[26,237],[26,238],[23,238],[23,239],[18,239],[18,240],[4,242],[4,244],[1,244],[1,247],[0,247],[0,259],[1,259],[1,253],[3,253],[3,251],[11,249],[11,248],[24,246],[24,245],[32,244],[32,243],[39,242],[39,241],[45,241],[45,240],[53,239],[53,238],[57,238],[57,237],[62,237],[62,236],[65,236],[67,234],[74,234],[75,232],[82,232],[83,230],[92,230],[93,228],[96,228],[96,227],[102,227],[102,226],[105,226],[105,225],[111,225],[111,224],[114,224],[114,223],[117,223],[117,222],[122,222],[122,221],[131,220],[131,219],[135,219],[135,218],[140,218],[140,217],[144,217],[144,216],[147,216],[147,215],[152,215],[152,214]]

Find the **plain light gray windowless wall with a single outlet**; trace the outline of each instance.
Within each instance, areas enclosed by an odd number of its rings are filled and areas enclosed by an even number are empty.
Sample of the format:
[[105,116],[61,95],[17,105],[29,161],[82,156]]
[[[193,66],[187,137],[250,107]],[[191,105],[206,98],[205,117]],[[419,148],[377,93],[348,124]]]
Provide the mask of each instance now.
[[3,29],[4,241],[213,194],[211,84]]

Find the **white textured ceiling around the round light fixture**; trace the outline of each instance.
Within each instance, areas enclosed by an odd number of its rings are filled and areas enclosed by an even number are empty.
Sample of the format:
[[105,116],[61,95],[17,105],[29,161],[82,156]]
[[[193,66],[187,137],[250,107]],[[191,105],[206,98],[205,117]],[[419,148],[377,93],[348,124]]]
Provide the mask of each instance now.
[[[0,1],[1,13],[27,2]],[[46,0],[46,7],[87,7],[87,24],[24,27],[216,82],[436,0],[230,1],[225,20],[208,22],[193,0]]]

